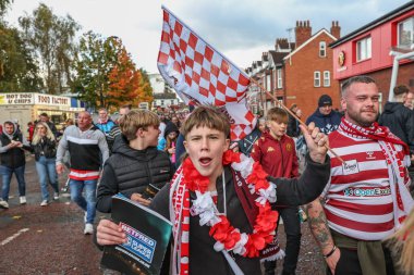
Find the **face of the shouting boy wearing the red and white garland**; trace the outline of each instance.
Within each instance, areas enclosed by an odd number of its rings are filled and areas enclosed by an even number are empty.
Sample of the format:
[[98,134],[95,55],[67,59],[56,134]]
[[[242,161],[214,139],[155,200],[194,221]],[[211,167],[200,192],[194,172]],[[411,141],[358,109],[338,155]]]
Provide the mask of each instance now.
[[210,183],[222,172],[222,155],[230,140],[224,133],[208,127],[194,127],[185,137],[184,147],[196,170]]

